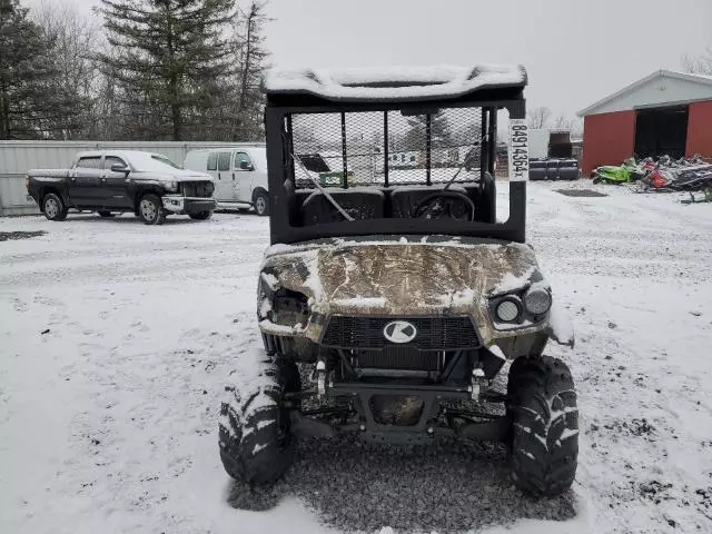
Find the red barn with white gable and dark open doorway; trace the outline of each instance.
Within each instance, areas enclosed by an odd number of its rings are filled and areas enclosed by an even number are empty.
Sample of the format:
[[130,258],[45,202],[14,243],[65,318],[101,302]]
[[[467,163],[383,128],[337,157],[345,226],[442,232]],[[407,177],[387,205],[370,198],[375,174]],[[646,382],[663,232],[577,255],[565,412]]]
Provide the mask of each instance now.
[[584,176],[633,155],[712,158],[712,77],[659,70],[578,117],[584,117]]

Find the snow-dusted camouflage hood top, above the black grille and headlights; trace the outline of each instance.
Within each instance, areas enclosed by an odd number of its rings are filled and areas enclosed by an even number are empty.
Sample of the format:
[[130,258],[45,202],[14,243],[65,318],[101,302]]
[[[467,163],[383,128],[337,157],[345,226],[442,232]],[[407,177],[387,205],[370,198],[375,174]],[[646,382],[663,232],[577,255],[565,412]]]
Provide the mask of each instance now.
[[520,279],[537,269],[532,249],[514,243],[330,243],[273,247],[263,265],[270,286],[276,278],[307,295],[312,310],[324,315],[472,314],[510,276]]

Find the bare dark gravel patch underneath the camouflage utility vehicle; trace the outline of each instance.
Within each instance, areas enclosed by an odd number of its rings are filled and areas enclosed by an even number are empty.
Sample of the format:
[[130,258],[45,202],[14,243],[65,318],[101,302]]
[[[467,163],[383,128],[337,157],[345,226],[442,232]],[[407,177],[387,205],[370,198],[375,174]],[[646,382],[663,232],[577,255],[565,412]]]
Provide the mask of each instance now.
[[301,442],[285,478],[269,490],[234,484],[229,503],[264,511],[296,496],[343,532],[465,532],[520,518],[564,521],[575,495],[523,497],[511,483],[504,446],[438,439],[386,446],[344,435]]

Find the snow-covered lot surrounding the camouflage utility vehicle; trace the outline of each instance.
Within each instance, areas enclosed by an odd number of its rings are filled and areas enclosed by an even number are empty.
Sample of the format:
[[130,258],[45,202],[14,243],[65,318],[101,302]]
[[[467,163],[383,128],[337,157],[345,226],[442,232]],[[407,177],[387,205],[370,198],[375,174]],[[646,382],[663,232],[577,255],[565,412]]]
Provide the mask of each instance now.
[[260,343],[267,220],[27,217],[0,219],[0,236],[47,233],[0,240],[0,531],[337,532],[353,516],[446,532],[465,506],[488,533],[712,532],[712,206],[562,187],[592,186],[531,184],[528,236],[577,330],[550,350],[580,394],[571,495],[520,496],[496,447],[413,459],[338,442],[301,449],[274,507],[237,510],[216,412]]

